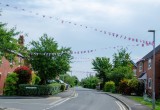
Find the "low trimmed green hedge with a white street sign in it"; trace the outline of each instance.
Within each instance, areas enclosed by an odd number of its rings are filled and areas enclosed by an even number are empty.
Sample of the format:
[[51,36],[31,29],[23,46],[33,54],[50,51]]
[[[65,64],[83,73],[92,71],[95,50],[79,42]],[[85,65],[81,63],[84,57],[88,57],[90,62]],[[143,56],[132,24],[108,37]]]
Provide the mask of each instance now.
[[43,95],[53,95],[60,92],[60,84],[51,85],[30,85],[30,84],[20,84],[18,95],[21,96],[43,96]]

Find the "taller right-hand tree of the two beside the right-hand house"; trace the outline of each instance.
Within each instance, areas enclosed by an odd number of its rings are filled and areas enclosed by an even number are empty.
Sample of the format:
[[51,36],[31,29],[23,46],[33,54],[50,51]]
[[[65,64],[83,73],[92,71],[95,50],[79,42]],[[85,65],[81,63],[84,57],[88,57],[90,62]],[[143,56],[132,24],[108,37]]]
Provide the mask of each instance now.
[[113,71],[110,78],[118,86],[119,82],[124,79],[133,77],[133,65],[131,64],[130,54],[125,49],[120,49],[113,55]]

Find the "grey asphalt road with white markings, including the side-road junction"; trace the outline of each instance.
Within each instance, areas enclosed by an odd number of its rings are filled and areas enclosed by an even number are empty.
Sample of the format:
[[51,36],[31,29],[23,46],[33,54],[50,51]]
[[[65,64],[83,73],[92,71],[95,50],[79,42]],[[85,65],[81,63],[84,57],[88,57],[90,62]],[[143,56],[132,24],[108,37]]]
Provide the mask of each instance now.
[[61,98],[0,99],[0,107],[12,110],[127,110],[116,99],[96,90],[75,88],[75,95]]

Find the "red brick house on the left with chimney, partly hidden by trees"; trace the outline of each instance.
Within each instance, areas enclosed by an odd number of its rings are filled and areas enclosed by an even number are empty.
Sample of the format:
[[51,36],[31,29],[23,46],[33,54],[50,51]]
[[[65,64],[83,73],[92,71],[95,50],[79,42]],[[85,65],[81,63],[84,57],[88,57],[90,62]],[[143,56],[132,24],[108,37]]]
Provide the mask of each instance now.
[[[20,44],[23,45],[24,43],[24,38],[23,36],[20,36],[19,38],[20,40]],[[21,66],[24,64],[24,57],[21,54],[15,53],[16,59],[17,59],[17,63],[15,64],[15,62],[13,62],[12,60],[9,62],[8,60],[6,60],[4,57],[0,60],[2,60],[2,64],[0,64],[0,94],[3,94],[3,88],[4,88],[4,84],[5,84],[5,79],[8,75],[8,73],[13,72],[15,70],[15,68]]]

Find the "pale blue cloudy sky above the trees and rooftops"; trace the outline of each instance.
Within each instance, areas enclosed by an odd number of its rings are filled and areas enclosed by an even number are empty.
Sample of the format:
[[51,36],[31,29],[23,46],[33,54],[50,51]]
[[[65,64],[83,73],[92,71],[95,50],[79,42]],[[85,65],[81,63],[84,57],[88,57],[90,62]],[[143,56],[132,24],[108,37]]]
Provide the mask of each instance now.
[[26,45],[47,33],[60,47],[71,47],[71,71],[79,79],[95,74],[92,59],[112,62],[121,47],[136,63],[153,49],[140,42],[153,41],[148,30],[156,30],[155,45],[160,44],[159,0],[0,0],[0,10],[0,22],[16,26]]

